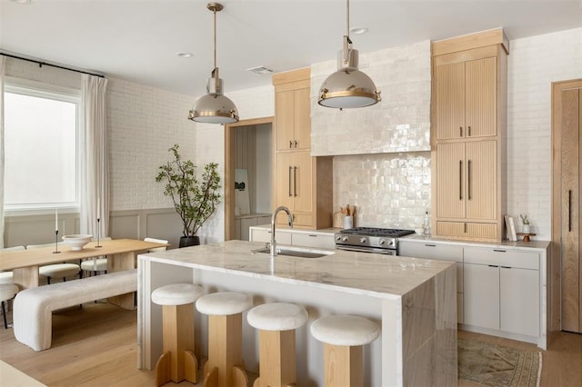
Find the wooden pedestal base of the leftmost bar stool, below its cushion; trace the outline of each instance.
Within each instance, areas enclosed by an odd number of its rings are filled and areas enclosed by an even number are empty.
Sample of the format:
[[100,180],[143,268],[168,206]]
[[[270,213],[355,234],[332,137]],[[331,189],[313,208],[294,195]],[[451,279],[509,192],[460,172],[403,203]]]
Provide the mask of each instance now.
[[[192,303],[164,305],[162,313],[163,352],[165,354],[166,352],[171,353],[169,356],[171,380],[181,382],[186,379],[188,382],[196,383],[196,357],[194,357],[194,353],[186,354],[194,350],[194,306]],[[188,363],[187,367],[186,362]],[[188,369],[187,374],[186,368]]]

